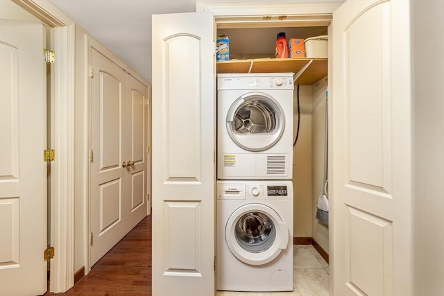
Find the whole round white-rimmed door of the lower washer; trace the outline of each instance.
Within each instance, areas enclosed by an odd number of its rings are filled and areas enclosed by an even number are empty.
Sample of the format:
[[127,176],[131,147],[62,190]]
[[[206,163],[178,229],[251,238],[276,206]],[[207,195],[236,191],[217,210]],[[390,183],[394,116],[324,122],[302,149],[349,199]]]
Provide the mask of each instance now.
[[262,265],[287,248],[289,230],[280,216],[264,204],[245,204],[225,225],[225,241],[240,261]]

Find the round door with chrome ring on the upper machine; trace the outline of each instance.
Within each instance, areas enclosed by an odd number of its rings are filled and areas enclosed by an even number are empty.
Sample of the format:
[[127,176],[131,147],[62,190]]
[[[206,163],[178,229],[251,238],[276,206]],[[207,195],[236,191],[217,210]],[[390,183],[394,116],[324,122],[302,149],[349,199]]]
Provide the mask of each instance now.
[[228,110],[226,122],[232,141],[253,152],[273,147],[285,128],[284,111],[278,101],[260,92],[237,98]]

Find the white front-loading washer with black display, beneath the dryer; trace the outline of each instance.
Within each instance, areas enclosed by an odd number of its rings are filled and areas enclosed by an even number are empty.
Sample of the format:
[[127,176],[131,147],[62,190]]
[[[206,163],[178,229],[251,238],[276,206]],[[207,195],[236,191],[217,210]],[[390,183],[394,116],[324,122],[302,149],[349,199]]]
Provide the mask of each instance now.
[[293,290],[291,181],[218,181],[216,225],[217,290]]

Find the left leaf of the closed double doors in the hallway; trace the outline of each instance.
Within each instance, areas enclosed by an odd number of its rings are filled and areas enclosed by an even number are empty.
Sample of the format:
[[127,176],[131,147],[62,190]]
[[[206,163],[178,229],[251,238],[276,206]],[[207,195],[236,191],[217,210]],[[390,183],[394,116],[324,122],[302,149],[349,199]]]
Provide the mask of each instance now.
[[90,146],[92,149],[89,223],[92,243],[89,259],[94,265],[126,234],[126,168],[123,155],[122,104],[126,73],[91,47]]

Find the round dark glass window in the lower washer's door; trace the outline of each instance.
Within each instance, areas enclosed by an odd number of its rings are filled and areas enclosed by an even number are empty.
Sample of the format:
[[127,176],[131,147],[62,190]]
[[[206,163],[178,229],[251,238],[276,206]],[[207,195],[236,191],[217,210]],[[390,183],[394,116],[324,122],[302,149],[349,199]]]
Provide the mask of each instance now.
[[273,245],[275,225],[266,214],[250,211],[239,218],[234,230],[237,243],[246,251],[260,253]]

